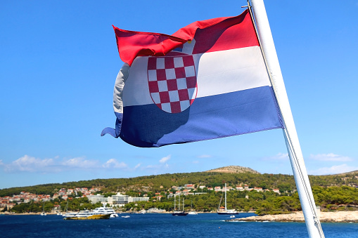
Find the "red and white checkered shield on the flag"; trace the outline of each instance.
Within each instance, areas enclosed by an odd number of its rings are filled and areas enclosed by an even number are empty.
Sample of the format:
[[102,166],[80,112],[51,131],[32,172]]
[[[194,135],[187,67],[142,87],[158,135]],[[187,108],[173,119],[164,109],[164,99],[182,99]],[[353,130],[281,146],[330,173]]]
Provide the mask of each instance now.
[[161,110],[183,112],[198,91],[193,56],[149,57],[148,86],[153,102]]

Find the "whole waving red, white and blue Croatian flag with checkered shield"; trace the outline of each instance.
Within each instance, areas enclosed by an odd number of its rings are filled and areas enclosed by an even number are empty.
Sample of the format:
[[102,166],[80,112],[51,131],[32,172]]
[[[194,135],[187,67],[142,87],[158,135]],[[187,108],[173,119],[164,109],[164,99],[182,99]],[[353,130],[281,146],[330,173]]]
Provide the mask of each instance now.
[[101,135],[160,147],[283,128],[248,10],[172,35],[114,29],[124,66]]

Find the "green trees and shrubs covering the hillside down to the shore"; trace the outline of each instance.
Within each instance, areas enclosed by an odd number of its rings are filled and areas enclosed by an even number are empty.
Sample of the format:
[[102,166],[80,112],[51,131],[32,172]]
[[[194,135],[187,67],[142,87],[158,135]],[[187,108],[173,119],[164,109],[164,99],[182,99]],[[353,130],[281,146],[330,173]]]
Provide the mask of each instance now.
[[[220,169],[222,171],[222,168]],[[324,211],[356,210],[358,205],[357,178],[358,173],[345,173],[344,175],[334,176],[309,176],[316,204],[320,205]],[[278,194],[272,191],[229,191],[227,192],[228,209],[234,208],[238,211],[255,210],[259,215],[286,213],[299,211],[301,209],[293,176],[268,173],[260,174],[252,171],[245,171],[245,173],[233,173],[233,171],[226,171],[226,173],[208,171],[173,173],[158,176],[141,176],[137,178],[82,180],[61,184],[12,187],[0,190],[0,197],[20,194],[22,191],[52,195],[56,190],[63,187],[101,187],[102,194],[121,192],[132,197],[143,196],[143,194],[148,194],[148,197],[151,197],[148,202],[127,204],[124,206],[123,211],[136,211],[152,207],[172,211],[174,208],[174,199],[167,198],[169,192],[175,192],[172,187],[193,184],[196,185],[196,187],[205,185],[203,190],[198,189],[196,192],[206,192],[206,194],[185,196],[185,209],[193,208],[196,211],[216,211],[220,198],[222,197],[222,192],[210,191],[207,190],[207,187],[223,187],[224,183],[231,187],[246,184],[252,188],[262,187],[263,190],[279,189],[281,192],[281,194]],[[162,198],[160,200],[156,199],[155,193],[161,194]],[[70,201],[69,206],[72,206],[75,200],[76,199]],[[82,207],[73,205],[72,208],[75,210],[87,208],[85,201],[86,198],[82,198]],[[58,200],[56,202],[61,204],[61,207],[65,207],[64,201]],[[34,206],[34,204],[32,205]],[[90,208],[90,205],[88,205],[88,208]]]

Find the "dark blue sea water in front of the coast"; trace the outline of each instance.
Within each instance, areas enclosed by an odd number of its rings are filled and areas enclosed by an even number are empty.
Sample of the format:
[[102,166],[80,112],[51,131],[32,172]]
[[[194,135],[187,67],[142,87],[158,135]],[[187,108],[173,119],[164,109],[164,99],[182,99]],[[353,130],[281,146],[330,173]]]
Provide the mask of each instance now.
[[[129,216],[124,218],[122,216]],[[236,218],[252,216],[240,213]],[[309,237],[305,223],[226,222],[217,213],[128,214],[108,220],[63,220],[57,215],[2,215],[0,237]],[[357,223],[322,223],[325,237],[358,237]]]

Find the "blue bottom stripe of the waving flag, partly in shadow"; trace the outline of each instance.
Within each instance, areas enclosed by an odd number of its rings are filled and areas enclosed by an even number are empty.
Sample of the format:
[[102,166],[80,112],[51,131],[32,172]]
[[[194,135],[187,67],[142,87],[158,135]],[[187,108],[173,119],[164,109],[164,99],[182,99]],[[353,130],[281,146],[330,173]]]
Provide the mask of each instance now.
[[124,107],[120,138],[139,147],[160,147],[283,128],[273,97],[271,87],[263,86],[196,98],[177,114],[156,105]]

